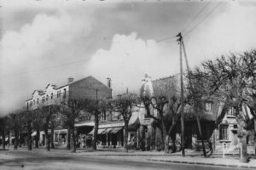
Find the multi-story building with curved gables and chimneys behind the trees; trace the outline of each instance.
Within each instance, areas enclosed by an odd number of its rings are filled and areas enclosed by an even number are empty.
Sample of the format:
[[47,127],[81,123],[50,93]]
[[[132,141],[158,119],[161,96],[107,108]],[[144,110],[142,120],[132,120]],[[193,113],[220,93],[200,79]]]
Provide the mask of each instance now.
[[[110,82],[108,82],[110,85]],[[44,107],[46,105],[61,105],[68,99],[107,99],[112,97],[112,89],[99,82],[94,77],[85,77],[73,81],[72,77],[67,79],[67,84],[57,87],[48,84],[45,90],[35,90],[32,99],[26,100],[28,111]],[[55,128],[54,140],[56,144],[65,144],[67,141],[67,128],[59,126]],[[32,133],[32,136],[36,133]],[[44,143],[44,132],[40,135]]]

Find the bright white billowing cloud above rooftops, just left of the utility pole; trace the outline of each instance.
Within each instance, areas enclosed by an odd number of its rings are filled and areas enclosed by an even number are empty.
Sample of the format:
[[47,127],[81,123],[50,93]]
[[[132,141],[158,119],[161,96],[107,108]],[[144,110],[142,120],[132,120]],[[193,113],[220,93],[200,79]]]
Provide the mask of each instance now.
[[115,94],[124,93],[126,88],[137,91],[144,74],[153,79],[177,73],[178,54],[172,53],[166,43],[143,40],[136,32],[113,36],[108,50],[98,49],[90,59],[87,72],[102,81],[113,80]]

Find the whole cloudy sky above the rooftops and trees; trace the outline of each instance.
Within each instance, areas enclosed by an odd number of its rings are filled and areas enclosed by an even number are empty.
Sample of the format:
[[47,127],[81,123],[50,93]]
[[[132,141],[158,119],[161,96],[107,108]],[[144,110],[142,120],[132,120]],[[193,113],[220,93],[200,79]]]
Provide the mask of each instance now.
[[137,92],[146,73],[153,80],[177,74],[180,31],[191,68],[256,44],[253,1],[0,0],[0,6],[0,115],[67,77],[103,83],[111,77],[116,95]]

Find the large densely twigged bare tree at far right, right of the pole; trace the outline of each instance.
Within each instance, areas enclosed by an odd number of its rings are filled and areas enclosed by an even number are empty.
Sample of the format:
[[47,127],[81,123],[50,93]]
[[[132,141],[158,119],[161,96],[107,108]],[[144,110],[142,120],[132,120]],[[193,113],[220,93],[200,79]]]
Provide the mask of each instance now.
[[[250,116],[243,107],[253,107],[255,103],[256,50],[243,54],[230,54],[216,60],[202,63],[202,68],[194,72],[194,77],[208,84],[205,93],[213,96],[227,107],[236,111],[238,138],[241,141],[241,162],[247,162],[247,130]],[[254,98],[253,98],[254,96]],[[251,111],[255,119],[255,111]]]

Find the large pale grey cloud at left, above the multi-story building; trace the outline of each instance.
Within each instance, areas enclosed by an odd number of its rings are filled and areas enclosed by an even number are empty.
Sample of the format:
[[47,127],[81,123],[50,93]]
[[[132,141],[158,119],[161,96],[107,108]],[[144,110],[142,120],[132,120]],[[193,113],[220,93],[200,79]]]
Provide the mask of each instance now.
[[40,69],[76,60],[73,56],[81,58],[84,51],[80,48],[80,38],[90,33],[92,23],[90,14],[79,16],[60,9],[55,14],[37,14],[32,23],[19,31],[5,31],[0,42],[1,114],[23,105],[36,87],[82,72],[82,67],[44,72]]

